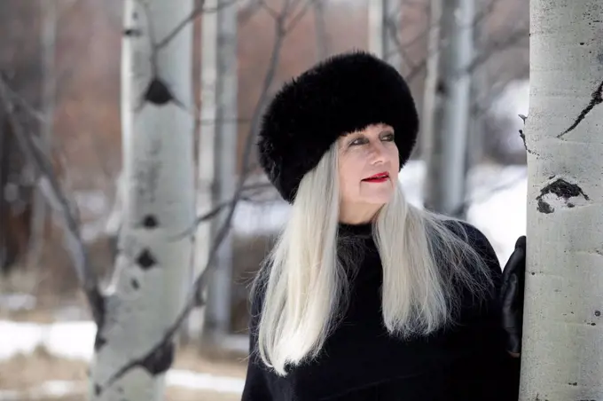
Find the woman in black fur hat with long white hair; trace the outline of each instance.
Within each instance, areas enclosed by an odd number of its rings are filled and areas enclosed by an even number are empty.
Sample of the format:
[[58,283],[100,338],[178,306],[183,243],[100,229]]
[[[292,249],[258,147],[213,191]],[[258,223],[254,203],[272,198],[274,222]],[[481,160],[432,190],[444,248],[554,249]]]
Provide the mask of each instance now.
[[361,51],[272,100],[260,161],[293,208],[252,287],[244,401],[517,399],[525,242],[503,290],[482,232],[405,201],[418,126]]

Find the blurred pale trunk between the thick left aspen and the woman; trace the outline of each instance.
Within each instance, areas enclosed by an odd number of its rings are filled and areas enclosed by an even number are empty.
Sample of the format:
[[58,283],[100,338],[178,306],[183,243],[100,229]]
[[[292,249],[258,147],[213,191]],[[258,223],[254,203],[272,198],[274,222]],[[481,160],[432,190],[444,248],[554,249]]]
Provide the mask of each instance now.
[[[208,0],[203,14],[201,66],[200,193],[197,212],[208,213],[232,199],[237,177],[237,10],[236,3]],[[195,270],[203,271],[215,234],[224,224],[227,208],[196,232]],[[232,232],[217,250],[215,271],[209,276],[208,303],[202,319],[203,340],[217,343],[231,329]],[[195,318],[193,315],[192,320]],[[194,322],[194,320],[193,320]]]

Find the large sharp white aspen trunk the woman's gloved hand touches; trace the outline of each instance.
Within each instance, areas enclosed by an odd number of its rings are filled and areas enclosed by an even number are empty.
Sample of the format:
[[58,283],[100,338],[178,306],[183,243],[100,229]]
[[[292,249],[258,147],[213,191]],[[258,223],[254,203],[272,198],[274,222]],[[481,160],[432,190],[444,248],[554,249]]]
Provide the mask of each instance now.
[[603,2],[531,0],[530,14],[521,400],[601,400]]

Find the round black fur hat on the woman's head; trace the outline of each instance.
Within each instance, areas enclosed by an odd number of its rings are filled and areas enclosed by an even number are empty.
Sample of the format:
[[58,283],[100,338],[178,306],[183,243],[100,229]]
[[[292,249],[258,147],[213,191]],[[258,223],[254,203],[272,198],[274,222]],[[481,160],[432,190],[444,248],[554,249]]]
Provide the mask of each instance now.
[[408,85],[370,53],[333,56],[286,83],[272,99],[259,133],[260,164],[293,203],[302,177],[337,138],[380,122],[394,128],[402,169],[419,130]]

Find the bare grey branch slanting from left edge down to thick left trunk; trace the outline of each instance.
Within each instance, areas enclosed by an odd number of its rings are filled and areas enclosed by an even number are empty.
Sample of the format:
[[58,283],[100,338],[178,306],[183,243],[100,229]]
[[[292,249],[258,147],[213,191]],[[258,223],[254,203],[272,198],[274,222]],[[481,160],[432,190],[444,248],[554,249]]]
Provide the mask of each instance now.
[[[80,224],[77,216],[74,216],[74,209],[70,206],[66,196],[60,189],[58,178],[52,172],[51,162],[44,156],[44,153],[35,144],[34,138],[22,129],[17,120],[18,108],[12,102],[9,96],[8,85],[0,76],[0,100],[4,106],[8,122],[14,132],[15,138],[19,142],[20,148],[27,158],[34,164],[41,175],[42,192],[48,196],[51,206],[62,217],[67,236],[67,250],[74,261],[75,272],[79,279],[83,291],[88,298],[92,316],[97,325],[102,324],[104,317],[104,299],[98,288],[98,279],[92,270],[88,252],[85,248],[80,235]],[[27,110],[26,110],[27,111]]]

